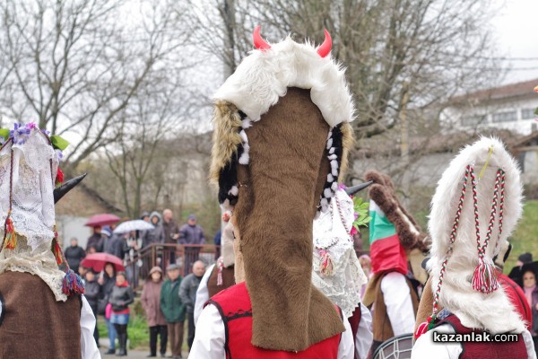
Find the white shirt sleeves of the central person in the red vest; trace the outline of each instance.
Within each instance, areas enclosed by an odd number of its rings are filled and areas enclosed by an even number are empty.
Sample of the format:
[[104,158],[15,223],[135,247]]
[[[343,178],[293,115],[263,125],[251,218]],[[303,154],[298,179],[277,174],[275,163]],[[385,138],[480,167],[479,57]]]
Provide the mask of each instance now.
[[[338,359],[353,359],[353,335],[349,321],[344,318],[345,331],[338,346]],[[196,326],[195,341],[188,355],[190,359],[226,359],[224,323],[214,305],[208,305],[200,314]]]

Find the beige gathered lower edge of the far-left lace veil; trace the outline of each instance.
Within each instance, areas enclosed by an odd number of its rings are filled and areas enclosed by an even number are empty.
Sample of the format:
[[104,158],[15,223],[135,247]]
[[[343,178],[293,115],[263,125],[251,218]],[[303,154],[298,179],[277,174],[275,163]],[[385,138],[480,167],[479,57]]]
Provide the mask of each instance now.
[[15,249],[4,248],[0,252],[0,273],[24,272],[39,276],[54,293],[56,301],[65,302],[67,296],[62,293],[65,273],[58,269],[56,258],[50,250],[50,242],[43,242],[31,250],[26,239],[17,235]]

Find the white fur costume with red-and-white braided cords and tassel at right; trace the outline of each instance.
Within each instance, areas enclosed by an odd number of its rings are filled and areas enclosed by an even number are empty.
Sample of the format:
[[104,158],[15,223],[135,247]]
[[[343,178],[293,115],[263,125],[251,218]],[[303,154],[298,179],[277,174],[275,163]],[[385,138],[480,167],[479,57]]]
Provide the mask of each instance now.
[[[418,339],[413,358],[431,357],[435,355],[432,351],[447,352],[447,346],[432,344],[430,333],[424,334],[435,327],[438,315],[446,311],[454,314],[465,328],[492,334],[523,334],[520,342],[525,339],[526,345],[530,340],[527,354],[535,357],[530,334],[499,285],[492,262],[521,214],[519,170],[499,140],[482,137],[464,147],[450,162],[431,201],[432,245],[427,267],[431,273],[433,313],[415,333]],[[447,326],[435,330],[442,327]],[[495,348],[500,349],[490,345],[488,350]],[[458,346],[457,353],[448,357],[461,353]]]

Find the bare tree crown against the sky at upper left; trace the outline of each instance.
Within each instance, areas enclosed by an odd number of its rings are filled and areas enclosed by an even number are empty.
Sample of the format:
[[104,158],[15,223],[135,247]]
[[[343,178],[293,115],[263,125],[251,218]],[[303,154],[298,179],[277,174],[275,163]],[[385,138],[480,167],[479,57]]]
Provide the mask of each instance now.
[[79,139],[74,169],[117,141],[119,120],[155,72],[175,73],[188,31],[176,2],[21,0],[0,4],[4,116]]

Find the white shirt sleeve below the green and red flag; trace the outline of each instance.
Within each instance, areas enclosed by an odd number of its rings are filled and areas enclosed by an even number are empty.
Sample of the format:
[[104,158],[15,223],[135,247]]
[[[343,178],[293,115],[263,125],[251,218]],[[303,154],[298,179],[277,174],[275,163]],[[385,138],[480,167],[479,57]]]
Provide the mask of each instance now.
[[398,272],[388,273],[381,279],[381,292],[395,337],[414,331],[415,316],[411,292],[405,276]]

